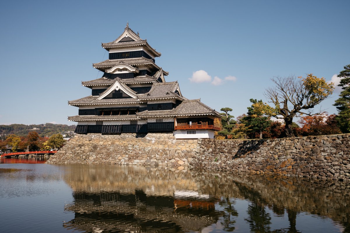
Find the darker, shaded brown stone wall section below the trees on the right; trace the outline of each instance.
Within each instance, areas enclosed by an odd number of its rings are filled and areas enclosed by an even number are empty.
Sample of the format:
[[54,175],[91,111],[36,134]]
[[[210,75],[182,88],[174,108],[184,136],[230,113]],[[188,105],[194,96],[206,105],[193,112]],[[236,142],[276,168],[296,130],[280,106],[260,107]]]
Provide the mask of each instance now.
[[350,180],[350,134],[198,144],[194,167]]

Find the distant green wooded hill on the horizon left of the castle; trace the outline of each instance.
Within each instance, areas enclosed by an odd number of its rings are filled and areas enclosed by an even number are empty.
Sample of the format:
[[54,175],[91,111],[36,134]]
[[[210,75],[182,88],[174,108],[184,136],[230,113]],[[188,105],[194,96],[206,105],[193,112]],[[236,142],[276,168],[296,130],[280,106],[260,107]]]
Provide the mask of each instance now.
[[48,136],[60,132],[70,132],[75,130],[76,125],[62,125],[62,124],[40,124],[40,125],[0,125],[0,138],[5,139],[9,134],[16,134],[18,136],[27,136],[29,132],[36,131],[40,137]]

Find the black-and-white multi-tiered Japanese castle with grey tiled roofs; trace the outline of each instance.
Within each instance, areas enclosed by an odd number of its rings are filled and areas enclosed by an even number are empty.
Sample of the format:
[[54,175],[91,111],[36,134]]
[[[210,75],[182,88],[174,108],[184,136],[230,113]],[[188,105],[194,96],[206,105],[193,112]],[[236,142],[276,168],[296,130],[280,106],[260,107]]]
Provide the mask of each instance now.
[[109,59],[93,64],[102,78],[82,82],[91,95],[68,101],[79,107],[76,133],[173,132],[175,138],[214,138],[219,113],[200,100],[182,96],[179,83],[155,64],[161,53],[126,25],[124,32],[102,47]]

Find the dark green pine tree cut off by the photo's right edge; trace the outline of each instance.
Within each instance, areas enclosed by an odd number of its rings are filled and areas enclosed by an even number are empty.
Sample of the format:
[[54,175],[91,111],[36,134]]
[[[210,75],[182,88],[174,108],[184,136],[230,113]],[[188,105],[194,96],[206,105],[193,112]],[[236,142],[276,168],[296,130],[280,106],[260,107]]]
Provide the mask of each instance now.
[[339,72],[338,77],[341,78],[338,86],[342,87],[343,91],[333,105],[338,110],[336,120],[339,128],[343,133],[348,133],[350,132],[350,64],[344,66],[344,70]]

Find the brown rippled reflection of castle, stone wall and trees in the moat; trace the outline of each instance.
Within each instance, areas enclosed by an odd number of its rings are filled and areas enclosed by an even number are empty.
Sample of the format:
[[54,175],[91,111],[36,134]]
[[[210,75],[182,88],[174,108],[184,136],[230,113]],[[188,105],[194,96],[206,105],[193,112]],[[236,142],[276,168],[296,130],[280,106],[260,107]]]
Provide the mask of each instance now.
[[[214,170],[64,166],[75,218],[85,232],[350,232],[350,185]],[[309,221],[309,217],[312,216]],[[299,229],[302,228],[302,229]],[[312,230],[314,228],[314,231]],[[215,231],[214,231],[214,230]],[[335,229],[337,231],[335,231]]]

